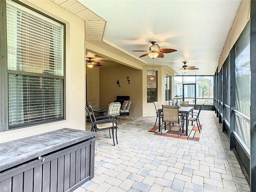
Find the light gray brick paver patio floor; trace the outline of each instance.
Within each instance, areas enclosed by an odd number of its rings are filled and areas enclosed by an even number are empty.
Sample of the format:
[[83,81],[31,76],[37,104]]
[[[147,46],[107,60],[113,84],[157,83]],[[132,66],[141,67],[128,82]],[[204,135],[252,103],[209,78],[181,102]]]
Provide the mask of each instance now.
[[97,132],[94,178],[75,192],[250,191],[214,111],[200,114],[200,141],[153,135],[155,120],[122,120],[116,146]]

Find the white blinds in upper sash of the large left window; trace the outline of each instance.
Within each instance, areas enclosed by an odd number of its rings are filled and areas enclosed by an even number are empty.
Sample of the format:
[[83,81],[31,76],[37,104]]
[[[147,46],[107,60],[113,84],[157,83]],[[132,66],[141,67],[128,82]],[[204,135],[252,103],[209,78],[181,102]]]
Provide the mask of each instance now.
[[14,2],[7,3],[9,70],[64,75],[64,26]]

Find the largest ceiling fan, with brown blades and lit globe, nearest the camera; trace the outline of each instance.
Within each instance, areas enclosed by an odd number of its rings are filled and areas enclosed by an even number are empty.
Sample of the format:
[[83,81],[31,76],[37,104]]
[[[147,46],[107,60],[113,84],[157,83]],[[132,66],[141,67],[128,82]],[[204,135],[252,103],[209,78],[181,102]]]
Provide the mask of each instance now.
[[[158,53],[158,55],[155,56],[154,58],[156,58],[156,57],[163,58],[164,53],[172,53],[172,52],[177,51],[176,49],[161,49],[160,46],[158,44],[156,44],[158,42],[157,40],[150,40],[149,42],[152,44],[152,46],[150,46],[150,48],[149,48],[149,51],[148,50],[134,50],[134,51],[138,51],[138,52],[148,52],[148,53],[141,55],[139,58],[147,56],[147,55],[150,56],[149,55],[150,53]],[[150,56],[150,58],[152,58],[152,57]]]

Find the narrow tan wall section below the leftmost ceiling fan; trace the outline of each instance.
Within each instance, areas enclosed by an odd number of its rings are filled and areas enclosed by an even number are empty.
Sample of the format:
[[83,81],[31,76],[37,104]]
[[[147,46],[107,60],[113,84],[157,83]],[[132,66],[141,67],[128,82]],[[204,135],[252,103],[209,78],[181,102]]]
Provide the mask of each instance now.
[[86,67],[86,79],[87,101],[96,100],[100,102],[100,68]]

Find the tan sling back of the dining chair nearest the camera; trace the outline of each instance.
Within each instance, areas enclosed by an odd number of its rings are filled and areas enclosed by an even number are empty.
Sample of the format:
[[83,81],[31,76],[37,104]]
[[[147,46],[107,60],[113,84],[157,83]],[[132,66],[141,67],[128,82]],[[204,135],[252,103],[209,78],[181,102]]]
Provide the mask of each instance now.
[[162,105],[163,121],[179,123],[179,107],[176,105]]

